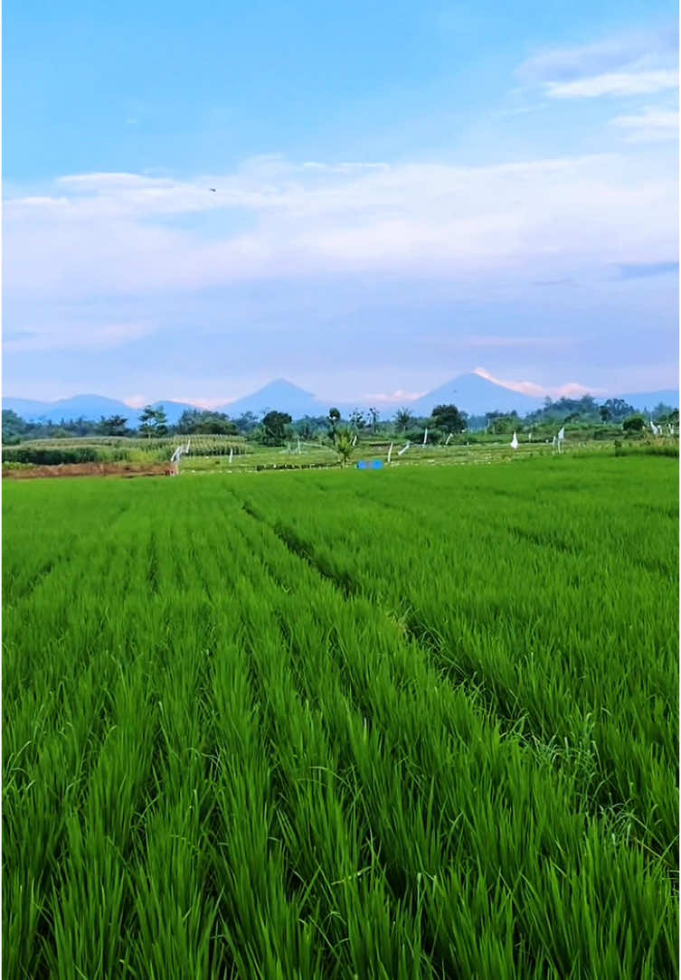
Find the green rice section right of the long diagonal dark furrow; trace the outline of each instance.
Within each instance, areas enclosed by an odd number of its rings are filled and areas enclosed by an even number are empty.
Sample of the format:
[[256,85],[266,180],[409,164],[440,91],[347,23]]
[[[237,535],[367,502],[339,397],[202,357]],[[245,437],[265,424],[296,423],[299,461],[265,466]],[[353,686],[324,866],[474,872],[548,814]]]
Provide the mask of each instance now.
[[291,494],[285,519],[264,483],[239,492],[289,547],[395,615],[454,681],[557,759],[579,760],[594,806],[675,867],[673,472],[556,460],[532,481],[517,466],[443,473],[427,496],[412,472],[348,485],[331,520],[323,485]]

